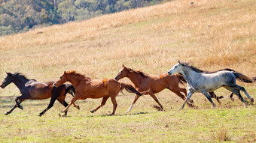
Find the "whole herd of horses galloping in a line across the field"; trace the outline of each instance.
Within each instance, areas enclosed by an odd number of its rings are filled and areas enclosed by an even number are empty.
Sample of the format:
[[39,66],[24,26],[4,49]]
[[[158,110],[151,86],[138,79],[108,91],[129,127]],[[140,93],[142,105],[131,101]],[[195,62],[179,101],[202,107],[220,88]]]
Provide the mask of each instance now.
[[[133,82],[134,87],[133,85],[119,82],[120,79],[125,77]],[[236,94],[246,107],[247,104],[241,96],[240,91],[245,93],[248,99],[251,100],[251,103],[254,102],[254,99],[250,97],[247,91],[245,91],[245,88],[236,85],[236,79],[247,83],[256,81],[256,77],[250,78],[229,68],[209,72],[200,70],[188,63],[178,61],[168,73],[160,74],[158,76],[150,76],[142,71],[133,70],[122,65],[121,70],[117,73],[114,79],[108,78],[102,80],[91,79],[74,70],[65,71],[56,82],[38,82],[35,79],[27,79],[26,76],[21,73],[7,73],[7,76],[0,87],[5,88],[9,84],[14,83],[14,85],[20,89],[21,94],[15,99],[16,104],[14,107],[6,112],[5,115],[9,115],[17,107],[23,109],[23,106],[21,106],[20,103],[25,100],[44,100],[47,98],[50,98],[50,103],[38,116],[44,115],[44,113],[53,106],[56,100],[66,107],[62,110],[62,112],[65,112],[63,116],[66,116],[70,106],[73,105],[75,108],[80,109],[79,106],[75,104],[76,100],[86,100],[87,98],[102,98],[102,103],[96,107],[96,109],[90,111],[92,113],[104,106],[108,98],[110,98],[113,103],[113,112],[111,115],[114,115],[117,109],[117,94],[119,94],[120,91],[123,91],[123,89],[136,94],[133,103],[126,113],[131,111],[139,97],[144,94],[149,94],[160,106],[160,109],[163,110],[163,106],[155,94],[166,88],[184,100],[180,109],[183,109],[185,104],[190,107],[194,106],[194,101],[190,100],[190,97],[195,92],[200,92],[205,95],[212,103],[213,108],[215,108],[215,103],[212,102],[212,98],[215,98],[218,103],[221,104],[219,99],[223,97],[218,97],[214,93],[216,89],[221,87],[231,91],[231,100],[233,100],[233,94]],[[71,85],[65,84],[66,82],[70,82]],[[187,84],[187,90],[179,87],[179,83],[182,85]],[[72,94],[73,97],[69,104],[65,101],[67,93]]]

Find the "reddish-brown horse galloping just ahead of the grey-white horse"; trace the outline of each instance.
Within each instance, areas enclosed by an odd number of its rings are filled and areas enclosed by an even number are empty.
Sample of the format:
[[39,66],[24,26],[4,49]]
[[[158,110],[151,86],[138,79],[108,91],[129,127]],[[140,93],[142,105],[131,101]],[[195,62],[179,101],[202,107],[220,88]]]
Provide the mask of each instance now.
[[[129,67],[125,67],[124,65],[122,65],[122,69],[119,71],[119,73],[117,73],[114,79],[118,81],[120,79],[123,79],[124,77],[129,78],[131,82],[133,82],[133,84],[135,85],[136,90],[138,90],[139,92],[146,91],[145,94],[149,94],[158,103],[161,110],[163,110],[163,106],[159,102],[155,94],[159,93],[160,91],[163,91],[163,89],[167,88],[173,93],[177,94],[178,97],[181,97],[182,100],[186,99],[186,89],[178,87],[179,82],[185,82],[184,78],[181,75],[176,74],[173,76],[169,76],[167,73],[165,73],[159,76],[149,76],[148,74],[145,74],[142,71],[133,70]],[[183,92],[184,95],[181,94],[181,92]],[[130,108],[126,113],[131,111],[133,105],[136,103],[139,97],[139,95],[136,95],[134,97],[133,103],[131,104]],[[192,106],[190,103],[187,104],[189,106]]]

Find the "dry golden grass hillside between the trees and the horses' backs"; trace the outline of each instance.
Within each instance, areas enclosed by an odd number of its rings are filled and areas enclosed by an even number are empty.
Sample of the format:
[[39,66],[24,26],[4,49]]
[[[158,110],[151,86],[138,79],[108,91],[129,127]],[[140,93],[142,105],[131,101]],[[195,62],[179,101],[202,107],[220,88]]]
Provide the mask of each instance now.
[[249,0],[172,1],[1,37],[1,70],[40,79],[78,70],[103,78],[121,64],[165,73],[181,59],[203,70],[230,67],[255,76],[254,7]]

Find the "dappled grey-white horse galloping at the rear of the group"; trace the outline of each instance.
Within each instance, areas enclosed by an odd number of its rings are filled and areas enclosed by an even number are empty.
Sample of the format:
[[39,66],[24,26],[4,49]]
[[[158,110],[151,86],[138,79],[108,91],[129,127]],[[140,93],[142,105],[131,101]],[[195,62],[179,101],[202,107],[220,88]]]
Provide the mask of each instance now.
[[184,63],[181,61],[178,61],[178,63],[175,64],[168,72],[169,76],[172,76],[175,73],[180,73],[187,81],[187,99],[184,101],[179,110],[184,108],[185,103],[187,103],[192,94],[195,92],[200,92],[205,95],[206,98],[212,103],[213,108],[215,108],[215,103],[212,102],[212,99],[207,92],[215,91],[221,87],[224,87],[231,91],[233,94],[236,94],[242,103],[244,103],[245,107],[247,105],[239,91],[243,91],[245,95],[251,100],[251,103],[254,102],[254,99],[250,97],[247,91],[245,91],[245,88],[236,85],[236,79],[246,83],[253,82],[251,78],[243,75],[242,73],[228,70],[204,72],[197,67],[191,66],[189,63]]

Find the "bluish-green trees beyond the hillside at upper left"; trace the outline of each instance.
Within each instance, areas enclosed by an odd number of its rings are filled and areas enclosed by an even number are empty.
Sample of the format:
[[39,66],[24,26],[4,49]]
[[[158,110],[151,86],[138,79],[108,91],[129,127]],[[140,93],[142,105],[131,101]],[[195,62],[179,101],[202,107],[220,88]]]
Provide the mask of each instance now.
[[169,0],[0,0],[0,36]]

